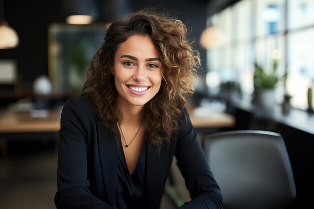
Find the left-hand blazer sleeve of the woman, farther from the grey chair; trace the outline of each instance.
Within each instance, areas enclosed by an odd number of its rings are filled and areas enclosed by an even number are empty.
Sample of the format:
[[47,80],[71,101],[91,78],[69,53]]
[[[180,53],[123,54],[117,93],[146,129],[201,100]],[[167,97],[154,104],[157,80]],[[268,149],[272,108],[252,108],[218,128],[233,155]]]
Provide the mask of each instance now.
[[[85,105],[86,106],[86,105]],[[87,108],[78,99],[69,99],[61,114],[58,149],[58,209],[116,208],[93,196],[87,178]]]

